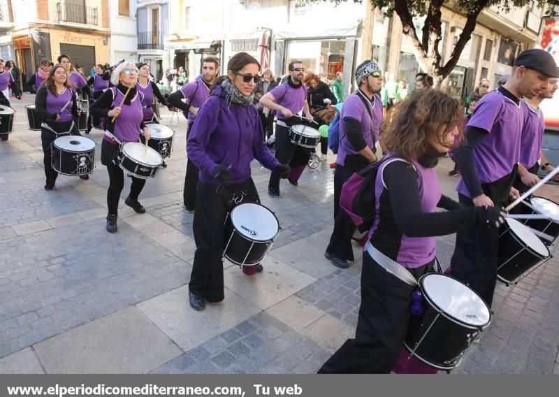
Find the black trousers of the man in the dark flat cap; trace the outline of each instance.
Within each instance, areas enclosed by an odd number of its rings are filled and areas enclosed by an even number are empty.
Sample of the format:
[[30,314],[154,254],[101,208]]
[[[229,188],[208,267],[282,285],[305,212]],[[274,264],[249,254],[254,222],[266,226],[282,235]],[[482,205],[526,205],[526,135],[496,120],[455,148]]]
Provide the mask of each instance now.
[[[463,194],[460,203],[474,205]],[[452,275],[473,289],[491,306],[497,282],[499,230],[485,226],[461,229],[456,233],[456,246],[451,259]]]

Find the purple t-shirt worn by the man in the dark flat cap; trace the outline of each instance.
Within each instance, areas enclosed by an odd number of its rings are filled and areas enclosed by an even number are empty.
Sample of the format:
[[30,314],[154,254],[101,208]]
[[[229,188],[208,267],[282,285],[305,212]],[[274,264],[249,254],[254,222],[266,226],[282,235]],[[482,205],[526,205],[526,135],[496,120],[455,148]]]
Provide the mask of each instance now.
[[[485,94],[477,103],[467,125],[489,131],[474,148],[479,182],[495,182],[512,172],[520,161],[523,122],[522,106],[516,105],[498,90]],[[462,178],[456,190],[470,197]]]

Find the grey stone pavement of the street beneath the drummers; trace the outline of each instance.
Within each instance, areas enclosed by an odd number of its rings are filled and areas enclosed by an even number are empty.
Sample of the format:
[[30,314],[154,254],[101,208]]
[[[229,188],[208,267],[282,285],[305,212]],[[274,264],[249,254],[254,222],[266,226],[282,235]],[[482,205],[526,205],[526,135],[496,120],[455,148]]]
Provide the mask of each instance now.
[[[282,231],[264,272],[242,275],[224,262],[226,299],[194,312],[187,282],[194,258],[193,215],[184,212],[185,122],[168,168],[148,180],[137,215],[121,202],[119,232],[105,231],[108,175],[61,176],[45,192],[38,131],[13,101],[15,133],[0,140],[0,373],[314,373],[355,332],[361,252],[347,270],[324,248],[332,226],[333,171],[307,168],[298,187],[267,194],[269,172],[256,162],[261,200]],[[170,121],[164,110],[163,120]],[[437,171],[456,196],[449,160]],[[128,179],[128,178],[126,178]],[[126,180],[123,197],[129,189]],[[558,198],[556,187],[542,196]],[[454,236],[438,239],[449,265]],[[518,284],[499,284],[491,326],[453,373],[557,373],[559,263],[551,258]]]

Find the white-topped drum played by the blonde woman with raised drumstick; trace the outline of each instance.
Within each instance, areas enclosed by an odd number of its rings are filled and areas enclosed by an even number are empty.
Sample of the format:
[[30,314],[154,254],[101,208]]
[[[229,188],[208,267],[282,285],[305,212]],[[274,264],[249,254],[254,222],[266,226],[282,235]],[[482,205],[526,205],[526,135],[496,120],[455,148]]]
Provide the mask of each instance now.
[[127,142],[122,145],[117,154],[117,164],[122,171],[140,179],[149,179],[155,176],[161,166],[161,156],[151,147],[146,147],[139,142]]

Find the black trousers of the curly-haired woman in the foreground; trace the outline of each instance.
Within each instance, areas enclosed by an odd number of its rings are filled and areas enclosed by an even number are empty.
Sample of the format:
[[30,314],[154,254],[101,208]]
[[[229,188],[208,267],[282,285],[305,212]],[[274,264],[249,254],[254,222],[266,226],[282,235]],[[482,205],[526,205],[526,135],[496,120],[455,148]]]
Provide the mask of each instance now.
[[[419,279],[431,270],[433,261],[409,272]],[[344,342],[319,373],[390,373],[406,337],[415,289],[365,252],[355,338]]]

